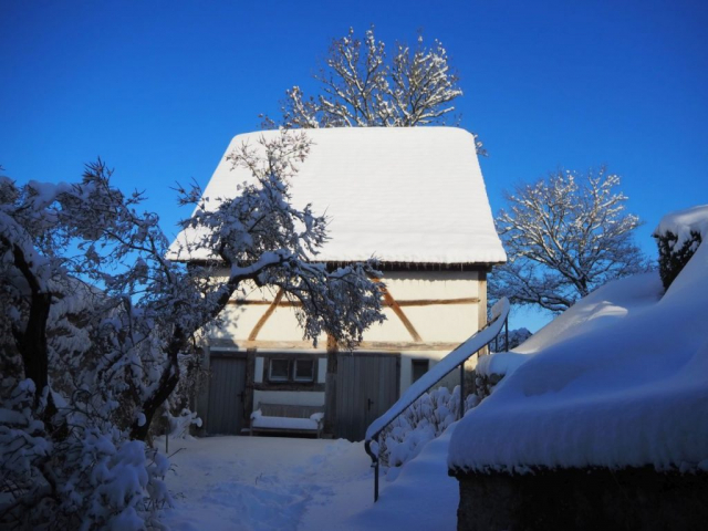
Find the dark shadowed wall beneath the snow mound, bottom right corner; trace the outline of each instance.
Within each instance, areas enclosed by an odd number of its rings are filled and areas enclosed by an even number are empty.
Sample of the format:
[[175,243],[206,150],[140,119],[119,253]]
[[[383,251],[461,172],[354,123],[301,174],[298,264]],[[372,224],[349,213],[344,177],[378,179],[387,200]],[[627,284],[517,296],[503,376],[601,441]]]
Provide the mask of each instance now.
[[707,472],[561,469],[458,479],[458,531],[707,529]]

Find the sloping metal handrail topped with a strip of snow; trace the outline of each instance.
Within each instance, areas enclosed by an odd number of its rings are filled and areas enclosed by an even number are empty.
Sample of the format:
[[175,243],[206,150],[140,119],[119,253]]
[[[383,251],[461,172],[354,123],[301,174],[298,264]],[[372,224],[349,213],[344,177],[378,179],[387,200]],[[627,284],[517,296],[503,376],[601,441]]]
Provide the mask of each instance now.
[[[506,341],[509,344],[509,301],[502,299],[498,304],[501,304],[501,310],[494,312],[492,309],[492,321],[487,323],[482,329],[472,334],[466,342],[458,345],[447,356],[445,356],[436,366],[434,366],[428,373],[423,375],[418,381],[408,387],[404,395],[396,400],[396,403],[388,408],[388,410],[374,420],[366,430],[366,438],[364,441],[364,449],[368,457],[372,459],[372,467],[374,468],[374,502],[378,501],[378,456],[372,450],[371,445],[373,441],[378,444],[378,436],[386,429],[396,418],[400,416],[410,405],[427,393],[434,385],[439,383],[444,377],[460,367],[460,407],[459,418],[465,416],[465,362],[479,351],[489,345],[492,341],[497,340],[501,333],[502,326],[506,329]],[[460,352],[458,352],[460,351]],[[447,367],[449,363],[445,361],[458,352],[460,361],[455,363],[451,367]],[[467,354],[466,354],[467,353]],[[465,355],[466,354],[466,355]],[[455,358],[450,358],[455,361]],[[435,378],[431,383],[428,381]],[[393,416],[389,416],[389,412],[394,410]]]

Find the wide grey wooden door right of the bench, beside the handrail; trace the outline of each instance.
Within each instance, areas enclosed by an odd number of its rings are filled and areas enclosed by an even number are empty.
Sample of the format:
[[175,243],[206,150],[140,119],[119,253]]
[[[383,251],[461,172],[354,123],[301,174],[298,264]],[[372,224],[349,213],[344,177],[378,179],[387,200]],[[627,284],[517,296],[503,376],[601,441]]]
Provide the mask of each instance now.
[[398,398],[400,356],[340,354],[335,437],[362,440],[366,428]]

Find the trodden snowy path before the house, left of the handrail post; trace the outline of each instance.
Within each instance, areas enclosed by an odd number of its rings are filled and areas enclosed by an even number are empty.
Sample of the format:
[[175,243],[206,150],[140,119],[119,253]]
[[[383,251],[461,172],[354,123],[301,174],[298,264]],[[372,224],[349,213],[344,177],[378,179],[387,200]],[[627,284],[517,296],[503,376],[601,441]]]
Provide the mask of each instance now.
[[331,506],[335,493],[346,494],[344,508],[352,511],[371,501],[361,444],[277,437],[170,442],[170,452],[183,448],[168,477],[178,507],[166,520],[176,530],[296,530],[309,508]]

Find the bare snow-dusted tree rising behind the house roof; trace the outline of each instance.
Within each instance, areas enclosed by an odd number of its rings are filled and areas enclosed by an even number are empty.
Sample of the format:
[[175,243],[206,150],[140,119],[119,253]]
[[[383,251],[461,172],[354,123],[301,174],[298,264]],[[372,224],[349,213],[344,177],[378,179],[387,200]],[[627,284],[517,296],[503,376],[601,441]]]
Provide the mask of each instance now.
[[[314,79],[320,83],[320,94],[308,97],[298,85],[285,91],[282,119],[262,116],[264,127],[446,125],[455,110],[454,100],[462,95],[439,41],[427,48],[418,35],[415,48],[396,44],[388,60],[386,45],[376,40],[373,28],[363,40],[353,29],[332,40]],[[477,142],[477,149],[485,153],[481,142]]]

